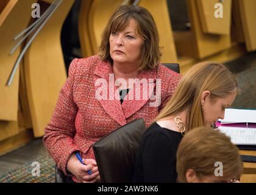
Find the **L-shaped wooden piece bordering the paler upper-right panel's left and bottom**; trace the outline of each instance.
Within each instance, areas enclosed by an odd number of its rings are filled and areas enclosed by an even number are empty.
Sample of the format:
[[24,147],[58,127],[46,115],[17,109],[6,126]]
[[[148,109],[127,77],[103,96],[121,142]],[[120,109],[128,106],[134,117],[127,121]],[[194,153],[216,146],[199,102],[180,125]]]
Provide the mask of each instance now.
[[210,35],[202,32],[199,23],[199,14],[197,11],[196,1],[187,0],[188,13],[191,21],[191,32],[193,36],[193,47],[197,59],[202,59],[209,55],[230,48],[230,36],[228,35]]

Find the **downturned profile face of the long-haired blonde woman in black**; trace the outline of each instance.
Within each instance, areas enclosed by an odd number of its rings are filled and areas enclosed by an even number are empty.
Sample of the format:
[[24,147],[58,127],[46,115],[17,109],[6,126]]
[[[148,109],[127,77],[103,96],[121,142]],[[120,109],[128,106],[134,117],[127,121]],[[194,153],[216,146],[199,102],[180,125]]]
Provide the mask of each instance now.
[[202,111],[204,114],[205,125],[211,126],[218,119],[224,118],[225,108],[230,107],[235,99],[236,92],[230,93],[225,98],[210,98],[210,92],[204,91],[201,98]]

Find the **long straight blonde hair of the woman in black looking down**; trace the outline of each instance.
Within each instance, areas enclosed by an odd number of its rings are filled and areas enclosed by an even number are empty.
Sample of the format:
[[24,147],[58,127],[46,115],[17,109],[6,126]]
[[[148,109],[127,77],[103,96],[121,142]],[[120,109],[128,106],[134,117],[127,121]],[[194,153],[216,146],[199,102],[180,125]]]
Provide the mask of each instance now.
[[182,77],[171,99],[153,122],[187,110],[186,132],[204,126],[201,96],[207,90],[214,101],[215,98],[226,98],[230,93],[238,93],[239,88],[234,75],[226,66],[215,62],[197,63]]

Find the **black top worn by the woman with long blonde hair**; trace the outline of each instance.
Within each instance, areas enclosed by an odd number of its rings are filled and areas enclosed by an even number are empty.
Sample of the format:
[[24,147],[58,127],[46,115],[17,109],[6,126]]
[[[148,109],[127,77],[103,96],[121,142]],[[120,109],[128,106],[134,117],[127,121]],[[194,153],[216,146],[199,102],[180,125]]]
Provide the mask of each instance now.
[[141,140],[133,182],[176,182],[176,152],[182,137],[154,122]]

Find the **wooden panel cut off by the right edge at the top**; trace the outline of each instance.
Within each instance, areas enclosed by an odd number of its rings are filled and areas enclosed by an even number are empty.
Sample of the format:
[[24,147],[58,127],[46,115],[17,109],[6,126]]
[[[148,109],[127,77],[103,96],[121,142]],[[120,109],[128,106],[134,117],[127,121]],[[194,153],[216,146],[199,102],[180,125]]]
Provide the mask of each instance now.
[[256,49],[256,1],[255,0],[240,0],[240,13],[243,21],[244,37],[246,40],[247,51]]

